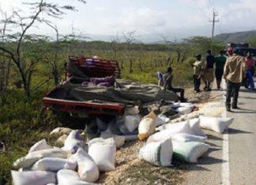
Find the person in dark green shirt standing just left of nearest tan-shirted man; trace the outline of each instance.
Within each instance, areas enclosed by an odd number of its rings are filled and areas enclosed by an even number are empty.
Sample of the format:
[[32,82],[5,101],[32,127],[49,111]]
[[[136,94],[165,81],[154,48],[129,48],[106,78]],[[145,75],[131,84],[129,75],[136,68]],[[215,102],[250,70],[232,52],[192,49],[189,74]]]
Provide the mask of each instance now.
[[227,61],[227,57],[224,56],[224,50],[220,50],[220,55],[215,57],[215,78],[218,90],[220,90],[220,83],[224,73],[224,66]]

